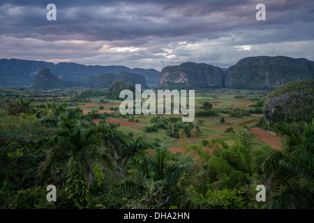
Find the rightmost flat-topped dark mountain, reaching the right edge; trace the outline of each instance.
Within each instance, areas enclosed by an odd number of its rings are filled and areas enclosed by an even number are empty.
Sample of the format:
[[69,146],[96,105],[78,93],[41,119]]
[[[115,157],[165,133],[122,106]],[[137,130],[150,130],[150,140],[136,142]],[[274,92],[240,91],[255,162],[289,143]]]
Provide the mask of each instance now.
[[275,89],[301,79],[314,79],[314,62],[287,56],[253,56],[227,69],[225,86],[237,89]]

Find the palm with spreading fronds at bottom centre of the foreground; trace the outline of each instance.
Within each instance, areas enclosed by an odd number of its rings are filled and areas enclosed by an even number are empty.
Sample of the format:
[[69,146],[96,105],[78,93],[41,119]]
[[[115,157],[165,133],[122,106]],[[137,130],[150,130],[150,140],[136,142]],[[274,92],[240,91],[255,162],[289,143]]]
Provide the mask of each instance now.
[[112,194],[130,197],[162,191],[169,201],[184,205],[188,198],[178,187],[178,182],[192,164],[191,157],[173,155],[164,145],[143,151],[128,162],[130,169],[135,171],[135,176],[114,187]]

